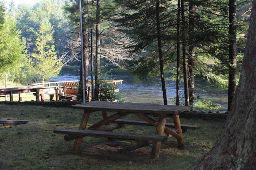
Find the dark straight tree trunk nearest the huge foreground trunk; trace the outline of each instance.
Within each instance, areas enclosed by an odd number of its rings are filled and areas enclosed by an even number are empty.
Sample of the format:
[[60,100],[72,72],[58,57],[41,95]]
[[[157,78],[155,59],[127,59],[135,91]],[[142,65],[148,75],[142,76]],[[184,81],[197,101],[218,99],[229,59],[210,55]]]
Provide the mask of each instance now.
[[229,0],[228,111],[236,91],[236,0]]

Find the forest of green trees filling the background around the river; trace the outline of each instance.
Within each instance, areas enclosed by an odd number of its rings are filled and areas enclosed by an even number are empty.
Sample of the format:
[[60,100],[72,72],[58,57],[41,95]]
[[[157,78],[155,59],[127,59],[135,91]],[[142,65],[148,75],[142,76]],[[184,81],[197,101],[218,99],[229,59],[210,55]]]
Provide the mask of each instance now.
[[83,57],[85,76],[95,77],[95,100],[101,75],[120,68],[141,79],[160,76],[164,104],[165,73],[176,81],[176,105],[184,95],[186,106],[198,100],[194,78],[199,76],[228,89],[230,109],[251,0],[82,0],[81,13],[79,2],[42,0],[16,6],[11,1],[6,8],[0,1],[1,82],[44,82],[66,66],[80,68]]

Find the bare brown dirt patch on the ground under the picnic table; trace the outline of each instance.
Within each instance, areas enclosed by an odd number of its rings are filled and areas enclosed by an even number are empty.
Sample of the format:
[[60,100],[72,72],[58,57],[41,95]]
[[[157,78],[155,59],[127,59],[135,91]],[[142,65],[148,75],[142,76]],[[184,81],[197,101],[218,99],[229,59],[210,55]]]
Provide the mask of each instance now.
[[[175,144],[177,145],[177,143]],[[174,152],[174,149],[172,149],[170,145],[173,147],[174,143],[171,141],[162,143],[160,155],[170,155]],[[176,145],[174,148],[177,147]],[[82,143],[80,146],[80,154],[81,156],[89,156],[100,162],[104,160],[114,161],[117,159],[119,162],[148,162],[154,161],[150,159],[151,149],[152,142],[144,147],[141,147],[141,145],[139,147],[136,141],[126,141],[124,143],[122,140],[114,139],[113,141],[94,143],[94,145],[85,146],[84,143]],[[160,159],[162,156],[160,156]]]

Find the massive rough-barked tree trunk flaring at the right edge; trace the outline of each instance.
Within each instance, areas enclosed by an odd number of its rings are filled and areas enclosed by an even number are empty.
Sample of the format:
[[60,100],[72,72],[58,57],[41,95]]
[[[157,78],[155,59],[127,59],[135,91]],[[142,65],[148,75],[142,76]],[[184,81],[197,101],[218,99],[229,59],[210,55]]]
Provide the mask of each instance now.
[[256,167],[256,1],[244,53],[241,77],[230,115],[217,144],[190,169],[239,169]]

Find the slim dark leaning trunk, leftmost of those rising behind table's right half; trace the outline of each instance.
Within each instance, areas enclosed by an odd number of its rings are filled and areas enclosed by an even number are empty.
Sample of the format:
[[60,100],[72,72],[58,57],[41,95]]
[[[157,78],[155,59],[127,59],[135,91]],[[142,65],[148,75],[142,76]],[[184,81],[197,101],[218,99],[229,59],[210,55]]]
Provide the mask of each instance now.
[[159,0],[156,0],[156,27],[157,27],[158,53],[159,53],[162,91],[163,91],[164,104],[167,105],[167,96],[166,96],[166,88],[165,88],[165,81],[164,81],[164,64],[163,64],[163,54],[162,54],[162,37],[161,37],[161,30],[160,30]]

